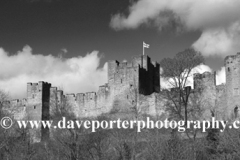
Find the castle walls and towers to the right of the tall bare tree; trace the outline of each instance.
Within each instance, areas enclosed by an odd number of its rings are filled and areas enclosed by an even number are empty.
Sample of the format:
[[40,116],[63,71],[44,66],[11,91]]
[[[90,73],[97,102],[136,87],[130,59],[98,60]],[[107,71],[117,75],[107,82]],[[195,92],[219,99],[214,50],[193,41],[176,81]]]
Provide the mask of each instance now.
[[226,84],[216,85],[216,73],[205,72],[194,75],[194,88],[202,90],[208,114],[214,110],[215,116],[228,120],[235,118],[234,109],[240,107],[240,53],[227,56],[224,63]]

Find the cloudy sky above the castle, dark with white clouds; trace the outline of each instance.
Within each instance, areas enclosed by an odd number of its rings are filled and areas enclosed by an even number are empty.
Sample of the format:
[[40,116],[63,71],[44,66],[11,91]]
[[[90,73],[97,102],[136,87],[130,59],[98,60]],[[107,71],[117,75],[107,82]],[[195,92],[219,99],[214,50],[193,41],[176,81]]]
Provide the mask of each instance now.
[[67,93],[96,91],[110,59],[154,60],[188,47],[202,52],[203,70],[217,70],[240,51],[239,0],[2,0],[0,89],[26,96],[41,80]]

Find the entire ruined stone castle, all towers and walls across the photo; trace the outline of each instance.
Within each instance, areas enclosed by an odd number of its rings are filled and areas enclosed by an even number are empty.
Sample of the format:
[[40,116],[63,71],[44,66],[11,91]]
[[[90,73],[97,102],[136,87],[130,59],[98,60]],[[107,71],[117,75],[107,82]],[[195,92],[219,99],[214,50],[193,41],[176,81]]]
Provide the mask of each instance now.
[[[233,116],[240,105],[240,53],[224,60],[226,84],[216,85],[216,73],[194,74],[194,90],[202,91],[206,114],[214,112],[218,118]],[[68,110],[76,117],[94,117],[112,110],[127,112],[131,106],[142,106],[149,115],[164,113],[164,100],[160,100],[160,64],[146,55],[135,56],[130,63],[109,61],[108,83],[97,92],[64,95],[50,83],[27,84],[27,98],[12,100],[9,106],[17,108],[15,119],[48,120],[57,106],[67,102]],[[140,98],[144,97],[144,98]],[[210,111],[211,112],[210,112]],[[206,116],[207,117],[207,116]],[[39,137],[48,131],[39,132]]]

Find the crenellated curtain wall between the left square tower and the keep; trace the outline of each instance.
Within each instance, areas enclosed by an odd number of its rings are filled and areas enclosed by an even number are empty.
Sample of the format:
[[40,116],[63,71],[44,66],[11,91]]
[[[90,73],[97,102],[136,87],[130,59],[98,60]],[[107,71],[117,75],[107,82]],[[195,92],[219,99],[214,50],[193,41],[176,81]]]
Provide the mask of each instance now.
[[108,84],[99,87],[98,92],[77,93],[76,95],[63,94],[57,87],[50,89],[50,113],[53,116],[59,108],[76,117],[97,116],[108,112],[109,106],[109,87]]

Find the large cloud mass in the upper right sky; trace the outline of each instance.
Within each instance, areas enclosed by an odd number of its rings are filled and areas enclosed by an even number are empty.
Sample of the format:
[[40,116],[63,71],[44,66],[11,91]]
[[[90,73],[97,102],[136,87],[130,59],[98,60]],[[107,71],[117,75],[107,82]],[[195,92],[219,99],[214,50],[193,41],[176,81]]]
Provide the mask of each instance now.
[[153,21],[161,29],[175,20],[185,30],[202,31],[193,44],[198,51],[224,57],[240,50],[239,6],[239,0],[139,0],[129,6],[128,15],[112,16],[110,26],[135,29]]

